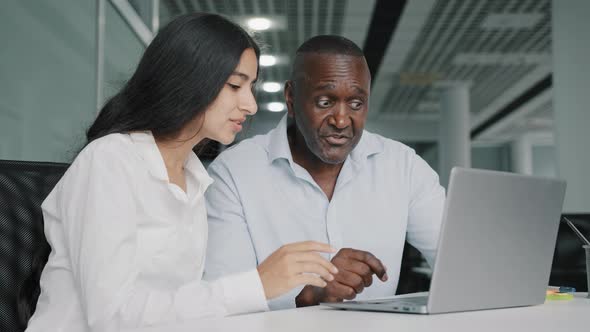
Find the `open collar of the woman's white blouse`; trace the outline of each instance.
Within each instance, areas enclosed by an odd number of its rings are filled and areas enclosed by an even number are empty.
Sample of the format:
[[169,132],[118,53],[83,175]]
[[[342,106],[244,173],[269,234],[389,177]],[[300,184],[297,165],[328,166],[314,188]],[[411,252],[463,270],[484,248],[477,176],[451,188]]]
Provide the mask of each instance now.
[[[129,136],[137,147],[140,157],[145,161],[150,174],[158,180],[167,182],[168,171],[152,133],[150,131],[133,132]],[[194,152],[189,154],[184,169],[199,182],[203,191],[213,183],[213,179]]]

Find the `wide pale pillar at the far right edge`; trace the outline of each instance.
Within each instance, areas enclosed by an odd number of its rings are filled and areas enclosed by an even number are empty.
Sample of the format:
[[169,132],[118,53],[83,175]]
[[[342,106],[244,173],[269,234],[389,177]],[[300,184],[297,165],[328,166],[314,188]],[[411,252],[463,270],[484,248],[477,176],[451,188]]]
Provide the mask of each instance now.
[[564,212],[590,212],[590,1],[553,0],[553,105]]

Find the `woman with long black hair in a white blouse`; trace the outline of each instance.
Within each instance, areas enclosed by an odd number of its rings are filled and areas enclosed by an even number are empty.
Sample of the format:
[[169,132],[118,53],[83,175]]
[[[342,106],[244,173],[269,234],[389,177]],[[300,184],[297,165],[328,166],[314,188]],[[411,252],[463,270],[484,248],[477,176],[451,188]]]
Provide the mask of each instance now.
[[334,250],[316,242],[201,280],[212,180],[192,150],[205,139],[232,142],[256,113],[259,53],[244,30],[211,14],[181,16],[156,36],[43,203],[52,251],[27,331],[117,331],[260,311],[293,287],[333,280],[336,267],[318,252]]

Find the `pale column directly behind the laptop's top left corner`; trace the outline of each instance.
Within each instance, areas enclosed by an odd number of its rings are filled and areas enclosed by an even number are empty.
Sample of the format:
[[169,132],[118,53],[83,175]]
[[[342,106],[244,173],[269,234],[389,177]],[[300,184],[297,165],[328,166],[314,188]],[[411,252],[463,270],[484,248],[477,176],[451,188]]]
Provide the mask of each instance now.
[[447,187],[454,166],[471,167],[469,85],[454,83],[442,89],[439,176],[441,184]]

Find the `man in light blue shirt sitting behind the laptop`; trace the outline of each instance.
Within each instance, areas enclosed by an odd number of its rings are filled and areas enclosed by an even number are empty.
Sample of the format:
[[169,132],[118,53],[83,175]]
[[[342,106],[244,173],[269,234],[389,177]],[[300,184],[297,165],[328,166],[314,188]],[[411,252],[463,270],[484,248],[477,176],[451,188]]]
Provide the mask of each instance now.
[[285,84],[288,114],[209,167],[205,278],[251,269],[290,242],[344,248],[331,257],[335,280],[271,301],[277,309],[394,295],[406,234],[432,266],[444,189],[412,149],[364,131],[370,83],[353,42],[301,45]]

